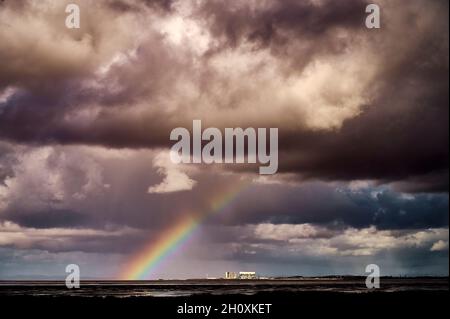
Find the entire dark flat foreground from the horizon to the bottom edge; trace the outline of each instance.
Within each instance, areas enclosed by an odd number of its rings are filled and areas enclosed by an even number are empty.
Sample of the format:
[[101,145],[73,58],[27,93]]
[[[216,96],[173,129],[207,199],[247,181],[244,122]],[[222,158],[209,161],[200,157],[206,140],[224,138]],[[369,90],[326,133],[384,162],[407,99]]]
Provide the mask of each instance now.
[[[447,279],[431,284],[429,281],[426,284],[390,284],[376,291],[360,289],[359,283],[356,284],[328,281],[201,282],[109,284],[105,288],[104,284],[92,283],[77,292],[54,285],[0,284],[0,307],[2,313],[16,317],[31,314],[44,318],[66,315],[104,318],[109,314],[127,318],[384,318],[393,315],[432,318],[448,311]],[[148,291],[151,293],[146,295]],[[154,291],[165,291],[165,294]],[[267,306],[253,306],[267,304],[271,305],[269,313]],[[190,306],[207,306],[210,312],[208,316],[205,312],[178,313],[180,309],[183,312],[195,309]],[[196,309],[202,311],[205,308]],[[222,313],[223,310],[226,313]],[[242,311],[244,313],[239,313]]]

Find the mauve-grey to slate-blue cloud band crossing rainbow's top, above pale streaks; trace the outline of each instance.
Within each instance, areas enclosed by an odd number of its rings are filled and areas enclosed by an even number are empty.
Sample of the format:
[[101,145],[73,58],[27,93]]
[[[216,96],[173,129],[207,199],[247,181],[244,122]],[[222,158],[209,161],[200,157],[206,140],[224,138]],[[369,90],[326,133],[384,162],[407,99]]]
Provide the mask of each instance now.
[[[206,214],[227,193],[249,184],[211,219],[213,225],[312,223],[327,227],[428,229],[448,226],[447,194],[410,194],[386,186],[346,183],[253,184],[250,177],[201,168],[191,190],[150,194],[164,176],[150,151],[55,147],[12,158],[9,187],[0,187],[0,216],[24,227],[108,225],[158,230],[182,216]],[[246,181],[243,181],[245,178]],[[24,201],[23,198],[27,200]],[[0,196],[0,206],[2,204]]]

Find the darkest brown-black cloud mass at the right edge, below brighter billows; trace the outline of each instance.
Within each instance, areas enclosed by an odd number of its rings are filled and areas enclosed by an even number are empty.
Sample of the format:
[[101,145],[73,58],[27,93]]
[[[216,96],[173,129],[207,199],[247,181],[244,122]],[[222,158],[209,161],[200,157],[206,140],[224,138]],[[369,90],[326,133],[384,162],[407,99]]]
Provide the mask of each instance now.
[[[386,96],[339,132],[290,134],[281,139],[291,150],[281,155],[281,170],[325,180],[404,180],[408,191],[446,192],[448,94],[440,92],[443,100],[438,102],[417,101],[410,93]],[[391,109],[396,99],[415,109],[407,114]],[[408,180],[414,185],[408,186]]]

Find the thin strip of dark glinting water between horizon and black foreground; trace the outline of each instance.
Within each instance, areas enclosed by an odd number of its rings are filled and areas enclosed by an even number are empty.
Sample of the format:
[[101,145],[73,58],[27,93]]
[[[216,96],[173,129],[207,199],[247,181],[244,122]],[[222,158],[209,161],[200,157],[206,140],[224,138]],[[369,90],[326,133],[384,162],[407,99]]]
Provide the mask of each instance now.
[[[382,278],[377,291],[449,290],[448,278]],[[187,280],[187,281],[86,281],[80,289],[67,289],[62,281],[0,281],[1,296],[82,297],[180,297],[198,294],[253,295],[258,292],[342,292],[367,293],[364,279],[301,280]]]

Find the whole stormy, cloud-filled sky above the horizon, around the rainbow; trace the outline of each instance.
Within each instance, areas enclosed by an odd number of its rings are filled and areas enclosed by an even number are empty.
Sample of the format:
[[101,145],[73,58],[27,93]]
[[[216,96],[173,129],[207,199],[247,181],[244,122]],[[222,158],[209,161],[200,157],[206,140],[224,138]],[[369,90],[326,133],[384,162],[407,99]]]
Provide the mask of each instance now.
[[[448,275],[449,4],[374,2],[1,1],[0,280],[121,278],[195,214],[148,278]],[[278,128],[278,173],[172,163],[193,120]]]

